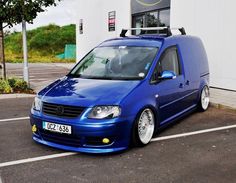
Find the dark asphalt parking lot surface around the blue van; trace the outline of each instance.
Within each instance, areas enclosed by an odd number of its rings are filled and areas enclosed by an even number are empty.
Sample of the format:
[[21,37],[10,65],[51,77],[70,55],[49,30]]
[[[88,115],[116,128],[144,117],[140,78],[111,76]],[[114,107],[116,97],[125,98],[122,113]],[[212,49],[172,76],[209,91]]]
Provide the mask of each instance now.
[[[236,181],[235,112],[210,108],[193,113],[144,148],[109,155],[65,154],[33,142],[27,118],[7,120],[27,117],[32,100],[0,100],[0,182]],[[231,125],[229,129],[178,136]]]

